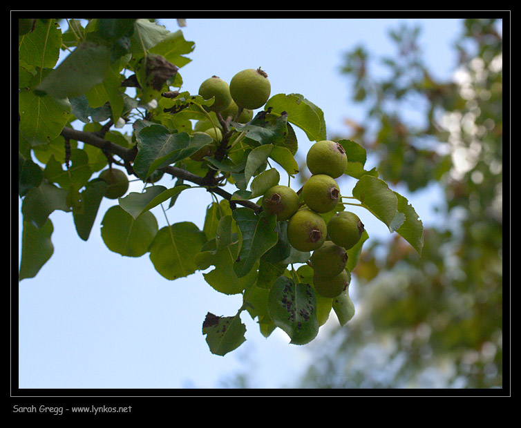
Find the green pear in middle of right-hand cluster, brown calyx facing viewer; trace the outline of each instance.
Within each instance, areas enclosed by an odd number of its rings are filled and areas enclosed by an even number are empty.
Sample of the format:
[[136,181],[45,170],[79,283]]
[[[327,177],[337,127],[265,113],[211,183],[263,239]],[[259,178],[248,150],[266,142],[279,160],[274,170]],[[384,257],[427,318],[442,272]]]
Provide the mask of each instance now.
[[287,223],[287,240],[298,251],[314,251],[325,242],[328,226],[319,213],[308,208],[294,213]]

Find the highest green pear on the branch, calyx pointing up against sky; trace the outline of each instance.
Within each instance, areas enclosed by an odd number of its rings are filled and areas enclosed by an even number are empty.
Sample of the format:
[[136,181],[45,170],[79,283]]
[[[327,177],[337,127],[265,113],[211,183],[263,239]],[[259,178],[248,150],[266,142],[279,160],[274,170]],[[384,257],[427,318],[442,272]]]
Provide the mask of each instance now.
[[247,68],[231,78],[229,90],[238,106],[255,110],[266,104],[272,86],[263,70]]

